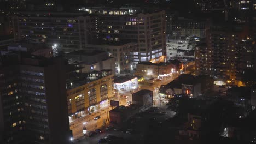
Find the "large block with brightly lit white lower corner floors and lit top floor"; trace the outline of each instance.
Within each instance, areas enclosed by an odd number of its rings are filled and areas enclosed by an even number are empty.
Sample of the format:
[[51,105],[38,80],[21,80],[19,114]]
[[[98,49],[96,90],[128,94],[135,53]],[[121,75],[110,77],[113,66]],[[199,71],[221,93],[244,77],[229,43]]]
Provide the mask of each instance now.
[[134,62],[164,62],[166,59],[165,11],[148,12],[138,8],[88,8],[97,14],[97,37],[102,43],[135,42]]

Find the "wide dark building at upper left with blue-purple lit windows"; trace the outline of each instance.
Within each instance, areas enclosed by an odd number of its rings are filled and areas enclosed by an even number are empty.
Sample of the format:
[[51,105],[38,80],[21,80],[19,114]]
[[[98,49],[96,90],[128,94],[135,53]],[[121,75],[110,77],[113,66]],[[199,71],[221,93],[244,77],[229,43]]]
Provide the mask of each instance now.
[[86,13],[22,12],[13,17],[14,38],[58,44],[65,51],[79,50],[96,38],[96,27],[91,20],[95,19]]

